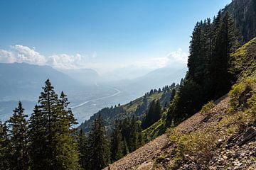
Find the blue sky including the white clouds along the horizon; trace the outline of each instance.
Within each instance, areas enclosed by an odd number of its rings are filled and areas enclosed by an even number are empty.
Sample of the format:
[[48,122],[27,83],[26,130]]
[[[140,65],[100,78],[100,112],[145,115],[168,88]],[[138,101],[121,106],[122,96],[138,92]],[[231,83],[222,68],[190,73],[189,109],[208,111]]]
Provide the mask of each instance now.
[[231,0],[0,1],[0,62],[106,69],[186,66],[196,21]]

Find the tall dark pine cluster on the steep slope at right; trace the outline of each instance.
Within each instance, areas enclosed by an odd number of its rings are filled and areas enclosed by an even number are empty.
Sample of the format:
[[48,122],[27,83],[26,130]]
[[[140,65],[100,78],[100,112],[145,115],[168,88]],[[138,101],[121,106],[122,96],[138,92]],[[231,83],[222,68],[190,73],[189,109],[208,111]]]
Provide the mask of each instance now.
[[235,81],[230,54],[240,46],[240,34],[229,13],[196,23],[191,37],[188,73],[171,102],[166,125],[177,125],[203,104],[228,92]]

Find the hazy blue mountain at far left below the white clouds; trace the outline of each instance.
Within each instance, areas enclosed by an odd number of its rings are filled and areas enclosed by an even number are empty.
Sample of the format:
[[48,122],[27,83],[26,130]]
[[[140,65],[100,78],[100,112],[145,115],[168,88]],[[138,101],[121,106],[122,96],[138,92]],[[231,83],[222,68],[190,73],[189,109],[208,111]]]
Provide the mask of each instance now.
[[0,78],[0,101],[34,101],[38,98],[46,79],[50,79],[59,91],[67,91],[79,85],[78,81],[50,66],[27,63],[0,63]]

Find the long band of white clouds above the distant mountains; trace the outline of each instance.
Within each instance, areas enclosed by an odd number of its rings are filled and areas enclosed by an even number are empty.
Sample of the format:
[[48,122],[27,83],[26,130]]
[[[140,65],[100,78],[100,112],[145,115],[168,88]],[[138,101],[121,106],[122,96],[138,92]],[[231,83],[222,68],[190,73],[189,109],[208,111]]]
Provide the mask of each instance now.
[[48,64],[58,69],[79,69],[92,68],[100,72],[110,71],[127,65],[134,65],[145,69],[158,69],[166,66],[185,65],[187,54],[179,48],[176,52],[170,52],[164,57],[144,57],[139,60],[127,60],[127,62],[92,62],[89,59],[95,59],[97,53],[93,52],[90,57],[80,54],[55,54],[48,57],[41,55],[35,47],[24,45],[10,46],[9,50],[0,50],[0,62],[28,62],[30,64]]

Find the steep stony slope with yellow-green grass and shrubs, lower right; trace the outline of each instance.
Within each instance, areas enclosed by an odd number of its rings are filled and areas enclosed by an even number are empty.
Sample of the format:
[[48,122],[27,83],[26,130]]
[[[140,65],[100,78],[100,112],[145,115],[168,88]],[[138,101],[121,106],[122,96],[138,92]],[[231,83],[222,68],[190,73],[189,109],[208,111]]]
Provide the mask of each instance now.
[[232,55],[238,82],[228,95],[110,169],[256,169],[255,54],[256,38]]

